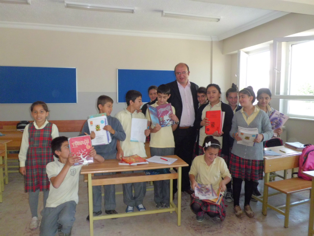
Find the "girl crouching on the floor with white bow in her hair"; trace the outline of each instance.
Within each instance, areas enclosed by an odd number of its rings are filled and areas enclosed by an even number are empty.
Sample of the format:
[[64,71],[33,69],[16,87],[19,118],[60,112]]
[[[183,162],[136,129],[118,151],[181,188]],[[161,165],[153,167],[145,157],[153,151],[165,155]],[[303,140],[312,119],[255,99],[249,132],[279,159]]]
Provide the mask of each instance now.
[[[216,193],[221,189],[220,193],[224,194],[226,184],[231,180],[231,175],[224,159],[218,156],[219,149],[220,143],[218,140],[212,136],[205,138],[203,144],[204,155],[195,157],[189,172],[191,188],[193,190],[198,183],[212,184]],[[197,177],[196,180],[195,177]],[[223,199],[220,205],[216,205],[191,197],[190,207],[196,214],[198,222],[204,220],[205,212],[210,217],[219,217],[222,221],[226,217],[226,207]]]

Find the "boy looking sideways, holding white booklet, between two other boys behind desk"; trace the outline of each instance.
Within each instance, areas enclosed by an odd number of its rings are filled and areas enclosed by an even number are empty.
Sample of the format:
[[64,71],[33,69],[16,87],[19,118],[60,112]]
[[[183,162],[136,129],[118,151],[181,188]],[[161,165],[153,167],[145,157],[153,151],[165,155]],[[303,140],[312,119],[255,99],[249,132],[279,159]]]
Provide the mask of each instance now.
[[[118,112],[115,117],[121,122],[124,131],[126,132],[127,138],[125,141],[118,143],[118,146],[123,150],[123,156],[139,155],[140,157],[146,157],[144,143],[131,142],[131,122],[132,118],[145,119],[143,113],[138,113],[140,107],[142,106],[142,94],[136,90],[129,90],[126,94],[126,101],[128,107]],[[145,130],[145,136],[150,134],[150,130]],[[120,144],[120,145],[119,145]],[[122,159],[122,157],[117,156],[117,158]],[[122,172],[122,174],[128,173],[139,173],[143,171],[128,171]],[[134,196],[132,193],[134,186]],[[146,208],[143,206],[143,200],[146,194],[146,182],[140,183],[124,183],[123,184],[123,202],[127,205],[126,212],[133,212],[134,207],[138,211],[144,211]]]

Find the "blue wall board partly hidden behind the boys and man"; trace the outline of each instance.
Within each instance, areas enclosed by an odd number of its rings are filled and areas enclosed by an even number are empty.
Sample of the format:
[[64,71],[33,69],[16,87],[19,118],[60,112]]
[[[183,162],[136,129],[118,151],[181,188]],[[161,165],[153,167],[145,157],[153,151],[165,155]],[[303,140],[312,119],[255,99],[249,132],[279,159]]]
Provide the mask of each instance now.
[[167,84],[176,80],[173,70],[124,70],[118,69],[118,102],[126,102],[129,90],[142,93],[142,101],[149,102],[147,89],[156,85]]

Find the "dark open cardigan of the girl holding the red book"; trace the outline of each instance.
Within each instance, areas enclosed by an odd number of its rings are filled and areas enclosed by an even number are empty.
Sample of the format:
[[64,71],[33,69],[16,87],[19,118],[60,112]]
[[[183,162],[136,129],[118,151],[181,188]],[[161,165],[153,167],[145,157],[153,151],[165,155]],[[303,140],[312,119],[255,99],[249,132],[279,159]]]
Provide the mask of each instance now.
[[[194,122],[194,126],[197,129],[201,128],[202,112],[207,105],[208,104],[204,104],[200,106],[200,108],[198,109],[197,116]],[[228,104],[223,103],[223,102],[221,102],[221,111],[225,112],[225,120],[224,120],[224,125],[222,127],[222,131],[224,132],[224,134],[222,135],[221,153],[229,156],[229,149],[232,146],[229,133],[231,130],[232,118],[234,117],[234,112],[232,111],[231,107]],[[198,147],[198,144],[196,146]]]

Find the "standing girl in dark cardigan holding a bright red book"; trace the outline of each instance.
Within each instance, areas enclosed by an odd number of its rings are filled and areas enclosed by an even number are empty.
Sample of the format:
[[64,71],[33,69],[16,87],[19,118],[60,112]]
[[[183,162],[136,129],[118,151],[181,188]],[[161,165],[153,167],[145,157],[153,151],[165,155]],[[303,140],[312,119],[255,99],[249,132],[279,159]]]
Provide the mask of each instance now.
[[[206,136],[208,136],[205,133],[205,126],[210,125],[210,120],[206,118],[206,112],[208,111],[225,112],[225,119],[223,122],[221,134],[218,134],[218,132],[215,131],[212,134],[212,137],[218,140],[221,145],[218,152],[218,156],[222,157],[225,160],[227,166],[229,167],[229,160],[230,160],[229,152],[230,152],[230,147],[232,145],[229,132],[231,130],[232,118],[234,116],[234,113],[229,105],[223,103],[220,100],[221,90],[218,85],[210,84],[207,86],[206,91],[207,91],[207,99],[209,100],[209,103],[200,106],[200,108],[197,111],[197,115],[194,121],[194,127],[196,129],[199,129],[199,132],[198,132],[199,141],[198,141],[198,145],[195,148],[195,154],[196,156],[204,154],[203,143]],[[225,199],[229,203],[232,202],[233,200],[231,182],[227,185],[227,192],[226,192]]]

